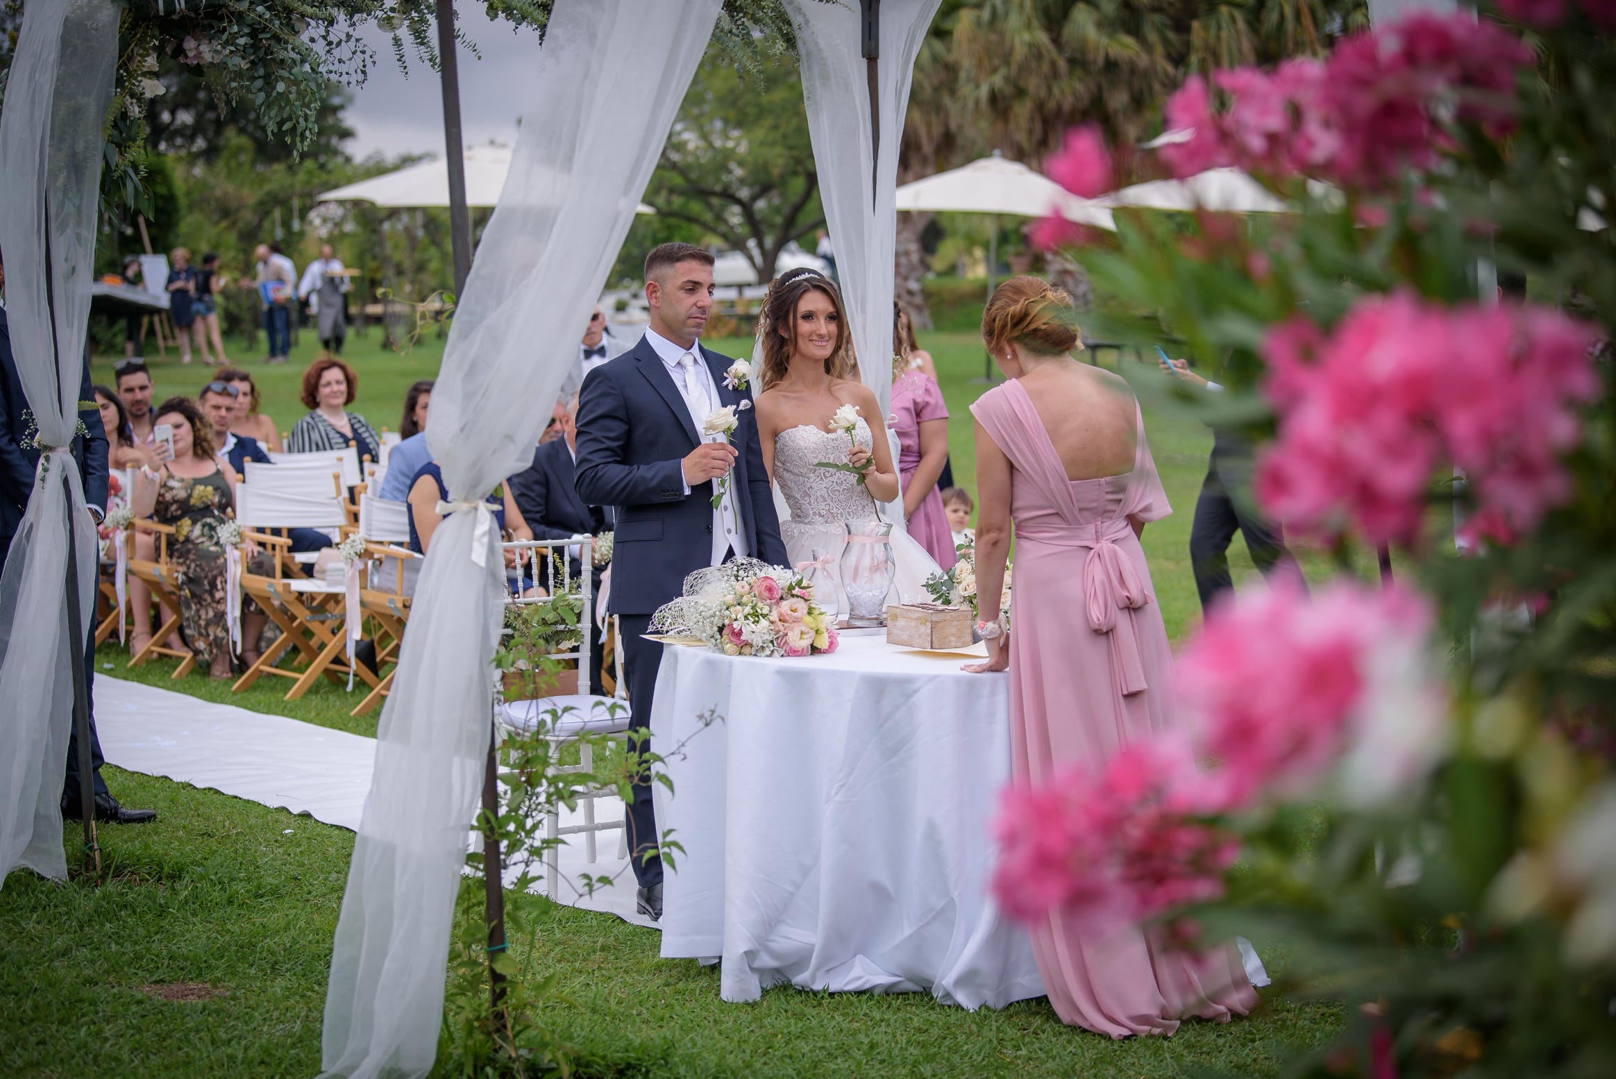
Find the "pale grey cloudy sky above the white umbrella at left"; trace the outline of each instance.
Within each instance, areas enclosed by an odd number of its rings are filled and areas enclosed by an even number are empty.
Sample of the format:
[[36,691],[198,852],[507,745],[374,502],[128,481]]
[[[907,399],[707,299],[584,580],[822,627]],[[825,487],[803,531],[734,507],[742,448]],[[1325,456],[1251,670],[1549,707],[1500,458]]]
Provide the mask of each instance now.
[[[482,5],[461,5],[459,21],[477,44],[482,60],[461,48],[461,124],[467,145],[516,142],[516,118],[525,100],[524,79],[533,68],[538,36],[517,31],[509,23],[490,23]],[[438,76],[414,57],[409,78],[393,58],[393,37],[367,27],[365,40],[377,50],[370,78],[354,90],[346,111],[356,136],[347,144],[356,158],[373,152],[436,153],[443,157],[443,97]]]

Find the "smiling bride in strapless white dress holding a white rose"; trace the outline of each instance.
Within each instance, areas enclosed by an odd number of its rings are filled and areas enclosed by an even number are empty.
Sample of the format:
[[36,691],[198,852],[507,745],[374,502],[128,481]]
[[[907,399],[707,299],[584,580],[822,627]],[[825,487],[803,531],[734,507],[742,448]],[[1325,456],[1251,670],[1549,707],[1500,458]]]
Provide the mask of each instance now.
[[[769,288],[758,320],[758,443],[769,480],[785,501],[781,538],[792,565],[835,560],[848,522],[874,522],[877,502],[902,498],[892,444],[876,396],[858,381],[847,317],[835,284],[813,270],[793,270]],[[858,410],[853,438],[832,430],[839,409]],[[848,464],[868,470],[821,468]],[[926,599],[924,580],[939,573],[924,548],[894,528],[897,562],[892,601]],[[835,565],[827,567],[839,577]],[[845,607],[844,607],[845,612]]]

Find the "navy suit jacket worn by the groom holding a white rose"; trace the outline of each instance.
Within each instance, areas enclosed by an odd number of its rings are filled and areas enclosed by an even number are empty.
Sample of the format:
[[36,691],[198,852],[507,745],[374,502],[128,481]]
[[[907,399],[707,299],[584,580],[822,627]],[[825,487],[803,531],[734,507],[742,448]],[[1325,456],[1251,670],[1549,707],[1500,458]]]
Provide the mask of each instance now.
[[[732,360],[700,349],[719,401]],[[763,468],[756,414],[739,414],[730,441],[740,451],[730,489],[753,557],[785,565],[774,496]],[[713,483],[685,494],[684,459],[703,439],[656,349],[640,342],[596,367],[579,401],[577,491],[585,506],[614,506],[612,614],[651,614],[684,591],[685,577],[713,562]]]

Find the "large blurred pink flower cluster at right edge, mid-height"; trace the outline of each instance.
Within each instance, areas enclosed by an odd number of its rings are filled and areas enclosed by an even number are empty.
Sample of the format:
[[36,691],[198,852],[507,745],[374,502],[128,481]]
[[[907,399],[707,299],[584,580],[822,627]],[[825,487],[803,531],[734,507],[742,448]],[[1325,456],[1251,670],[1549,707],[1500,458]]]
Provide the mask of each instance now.
[[1359,530],[1414,543],[1438,465],[1469,477],[1471,538],[1511,543],[1564,502],[1559,456],[1598,381],[1592,331],[1535,307],[1437,307],[1408,292],[1361,300],[1325,338],[1270,330],[1264,393],[1278,439],[1259,454],[1257,499],[1315,536]]

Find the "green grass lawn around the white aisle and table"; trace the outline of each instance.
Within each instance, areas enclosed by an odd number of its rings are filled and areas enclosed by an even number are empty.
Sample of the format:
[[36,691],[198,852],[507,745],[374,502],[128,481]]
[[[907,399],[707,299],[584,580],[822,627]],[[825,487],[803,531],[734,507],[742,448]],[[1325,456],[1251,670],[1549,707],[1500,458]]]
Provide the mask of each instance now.
[[[383,354],[378,341],[372,331],[349,342],[360,376],[356,407],[378,426],[396,426],[404,388],[435,373],[441,344],[396,355]],[[714,344],[745,351],[745,342]],[[926,334],[923,344],[937,360],[953,414],[955,477],[970,486],[966,409],[984,389],[971,381],[981,373],[981,344],[963,333]],[[291,363],[249,365],[265,410],[283,428],[302,414],[297,380],[312,355],[305,333]],[[244,359],[239,351],[236,359]],[[97,363],[95,373],[110,381],[108,363]],[[158,394],[194,393],[207,378],[205,368],[181,368],[173,359],[157,362],[154,375]],[[1151,525],[1144,544],[1168,632],[1180,638],[1199,614],[1186,548],[1210,438],[1181,415],[1151,410],[1146,423],[1176,512]],[[1238,540],[1231,556],[1236,578],[1249,575]],[[1311,577],[1328,572],[1319,557],[1306,564]],[[323,682],[304,699],[284,703],[284,686],[268,680],[231,696],[200,675],[170,680],[171,661],[137,672],[124,670],[124,662],[115,644],[99,654],[103,675],[113,664],[120,677],[375,733],[373,714],[347,716],[360,695]],[[0,985],[10,1001],[0,1016],[0,1076],[314,1076],[352,833],[112,767],[108,780],[126,804],[155,808],[160,817],[154,825],[103,829],[107,884],[63,887],[18,872],[0,890]],[[71,856],[76,829],[65,830],[65,843]],[[1042,1000],[966,1013],[921,995],[774,989],[760,1003],[726,1005],[718,969],[658,959],[651,930],[528,895],[511,903],[527,932],[514,947],[525,969],[558,976],[543,1019],[577,1050],[587,1076],[1122,1079],[1209,1068],[1260,1076],[1340,1024],[1335,1003],[1275,997],[1228,1027],[1186,1024],[1170,1040],[1130,1042],[1063,1027]],[[1259,937],[1259,947],[1283,968],[1283,945]]]

